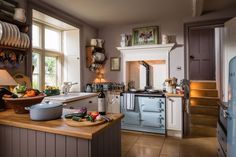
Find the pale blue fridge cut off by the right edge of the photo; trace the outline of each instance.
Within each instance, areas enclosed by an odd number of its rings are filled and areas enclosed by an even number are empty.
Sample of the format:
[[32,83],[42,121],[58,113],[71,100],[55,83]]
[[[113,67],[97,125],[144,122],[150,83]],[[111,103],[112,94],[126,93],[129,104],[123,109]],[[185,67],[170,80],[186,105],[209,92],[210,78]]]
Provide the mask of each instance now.
[[229,63],[228,103],[227,156],[236,157],[236,57],[234,57]]

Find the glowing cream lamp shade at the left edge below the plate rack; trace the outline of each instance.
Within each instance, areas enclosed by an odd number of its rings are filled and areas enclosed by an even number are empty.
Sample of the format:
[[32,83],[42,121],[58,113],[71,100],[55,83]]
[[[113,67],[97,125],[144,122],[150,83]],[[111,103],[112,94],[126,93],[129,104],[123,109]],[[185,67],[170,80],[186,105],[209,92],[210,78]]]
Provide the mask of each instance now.
[[12,76],[5,70],[0,69],[0,86],[16,86],[16,81]]

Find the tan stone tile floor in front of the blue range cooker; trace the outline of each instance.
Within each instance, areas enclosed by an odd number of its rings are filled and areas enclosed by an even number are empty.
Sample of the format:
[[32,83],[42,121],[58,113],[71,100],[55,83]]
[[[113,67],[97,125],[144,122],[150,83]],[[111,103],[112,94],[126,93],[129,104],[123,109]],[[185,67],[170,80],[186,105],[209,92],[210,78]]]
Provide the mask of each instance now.
[[178,139],[122,132],[122,157],[217,157],[216,138]]

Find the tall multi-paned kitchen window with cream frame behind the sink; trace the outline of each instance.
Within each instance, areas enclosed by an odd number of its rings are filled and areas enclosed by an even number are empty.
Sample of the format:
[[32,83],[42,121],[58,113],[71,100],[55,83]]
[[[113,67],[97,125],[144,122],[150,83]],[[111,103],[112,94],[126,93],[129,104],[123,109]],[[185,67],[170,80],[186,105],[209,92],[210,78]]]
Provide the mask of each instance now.
[[62,30],[44,23],[34,22],[33,44],[33,88],[59,86],[62,65]]

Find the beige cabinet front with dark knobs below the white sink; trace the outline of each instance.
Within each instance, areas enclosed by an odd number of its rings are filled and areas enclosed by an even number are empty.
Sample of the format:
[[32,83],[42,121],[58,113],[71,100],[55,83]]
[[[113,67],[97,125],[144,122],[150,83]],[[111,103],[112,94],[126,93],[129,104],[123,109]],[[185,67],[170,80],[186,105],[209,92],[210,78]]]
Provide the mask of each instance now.
[[98,98],[97,96],[89,97],[81,100],[65,102],[64,108],[69,109],[78,109],[80,107],[87,107],[88,111],[97,111],[98,110]]

